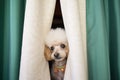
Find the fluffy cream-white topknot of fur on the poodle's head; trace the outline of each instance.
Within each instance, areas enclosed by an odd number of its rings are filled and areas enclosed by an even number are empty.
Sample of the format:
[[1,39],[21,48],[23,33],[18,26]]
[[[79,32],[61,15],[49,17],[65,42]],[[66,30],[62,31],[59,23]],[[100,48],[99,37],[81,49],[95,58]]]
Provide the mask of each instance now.
[[45,39],[45,44],[47,46],[52,46],[55,43],[66,43],[67,44],[67,37],[64,29],[57,28],[51,29]]

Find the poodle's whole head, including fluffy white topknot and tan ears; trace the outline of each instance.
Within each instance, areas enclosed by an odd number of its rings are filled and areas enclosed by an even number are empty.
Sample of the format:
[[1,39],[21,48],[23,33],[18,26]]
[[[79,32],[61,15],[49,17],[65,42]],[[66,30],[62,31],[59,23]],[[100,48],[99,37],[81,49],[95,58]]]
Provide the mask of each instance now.
[[51,29],[45,39],[45,58],[48,61],[62,61],[67,58],[68,52],[69,47],[65,30],[60,28]]

